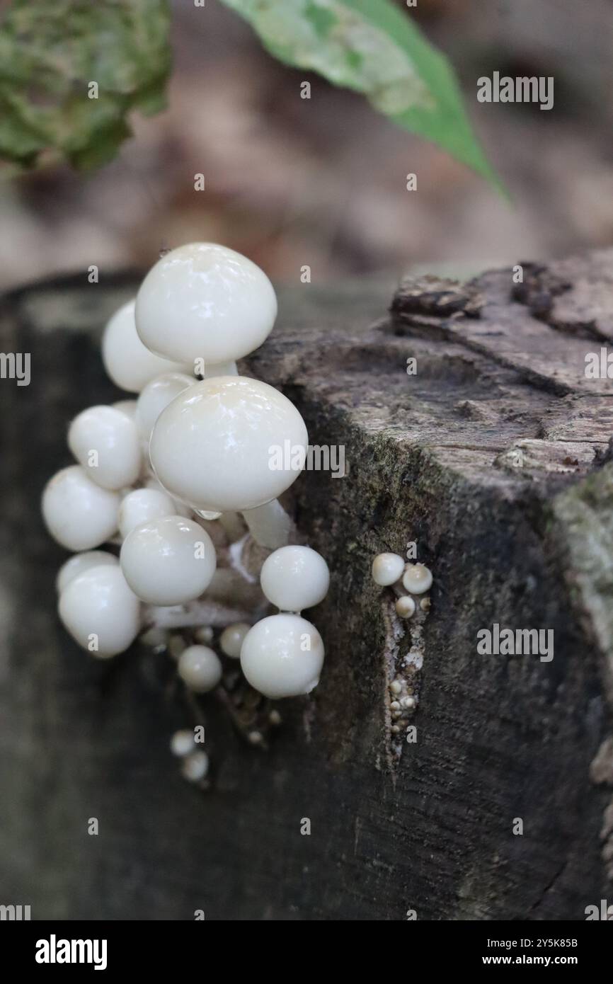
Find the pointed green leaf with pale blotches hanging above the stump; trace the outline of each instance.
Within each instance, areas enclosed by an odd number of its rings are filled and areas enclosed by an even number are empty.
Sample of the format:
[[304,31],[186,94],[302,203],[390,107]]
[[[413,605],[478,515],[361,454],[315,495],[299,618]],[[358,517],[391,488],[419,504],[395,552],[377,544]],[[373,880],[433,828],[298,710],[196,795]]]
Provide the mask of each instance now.
[[504,188],[477,142],[447,58],[391,0],[222,0],[286,65],[362,92],[399,126]]

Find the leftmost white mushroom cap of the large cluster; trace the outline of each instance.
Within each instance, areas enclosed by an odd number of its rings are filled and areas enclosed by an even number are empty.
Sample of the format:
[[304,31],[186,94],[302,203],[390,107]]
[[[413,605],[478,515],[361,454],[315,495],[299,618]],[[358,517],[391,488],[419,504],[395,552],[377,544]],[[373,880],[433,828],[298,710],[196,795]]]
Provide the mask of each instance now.
[[121,498],[103,489],[80,464],[62,468],[42,493],[42,517],[54,539],[67,550],[92,550],[117,529]]

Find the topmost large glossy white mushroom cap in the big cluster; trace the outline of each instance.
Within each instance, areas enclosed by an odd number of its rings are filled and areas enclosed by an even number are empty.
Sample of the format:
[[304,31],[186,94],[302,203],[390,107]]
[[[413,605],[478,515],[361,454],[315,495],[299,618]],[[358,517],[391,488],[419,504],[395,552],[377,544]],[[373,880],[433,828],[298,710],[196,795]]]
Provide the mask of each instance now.
[[276,295],[266,274],[215,243],[189,243],[166,253],[136,299],[143,343],[192,366],[198,358],[242,358],[269,336],[275,319]]

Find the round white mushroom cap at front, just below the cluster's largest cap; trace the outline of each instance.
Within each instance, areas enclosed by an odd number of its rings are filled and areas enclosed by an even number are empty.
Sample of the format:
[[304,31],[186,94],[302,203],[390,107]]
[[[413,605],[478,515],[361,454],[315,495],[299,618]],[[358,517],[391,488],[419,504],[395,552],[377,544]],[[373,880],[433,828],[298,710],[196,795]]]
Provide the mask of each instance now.
[[132,590],[152,605],[182,605],[200,597],[215,574],[209,533],[182,516],[162,516],[136,526],[119,555]]

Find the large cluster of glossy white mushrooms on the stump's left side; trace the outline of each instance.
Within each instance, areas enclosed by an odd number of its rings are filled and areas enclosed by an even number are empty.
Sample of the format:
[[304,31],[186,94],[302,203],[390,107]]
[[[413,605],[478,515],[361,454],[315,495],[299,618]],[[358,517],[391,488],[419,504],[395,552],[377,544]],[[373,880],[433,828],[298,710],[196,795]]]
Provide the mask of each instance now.
[[[77,463],[42,495],[49,532],[74,554],[57,577],[68,632],[106,658],[141,634],[156,633],[157,645],[160,632],[179,630],[176,671],[194,694],[238,666],[266,698],[308,694],[324,661],[301,612],[325,597],[328,566],[290,544],[277,497],[298,471],[271,466],[271,448],[286,441],[306,454],[306,426],[235,364],[275,319],[270,280],[240,254],[212,243],[165,254],[102,338],[109,377],[134,399],[73,420]],[[261,591],[247,555],[260,558]],[[202,777],[206,756],[183,745],[187,771]]]

